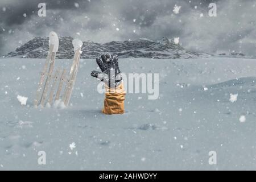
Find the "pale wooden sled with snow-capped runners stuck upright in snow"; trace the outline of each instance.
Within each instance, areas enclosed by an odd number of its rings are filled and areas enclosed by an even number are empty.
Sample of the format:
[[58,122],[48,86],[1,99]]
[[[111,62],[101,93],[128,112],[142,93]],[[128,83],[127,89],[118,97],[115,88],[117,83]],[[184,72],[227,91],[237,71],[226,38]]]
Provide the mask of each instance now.
[[[35,107],[39,105],[44,106],[46,102],[47,104],[52,105],[53,96],[55,93],[55,87],[57,85],[58,80],[60,81],[57,88],[55,101],[60,100],[61,89],[63,88],[64,82],[66,82],[64,93],[61,98],[61,102],[63,102],[65,106],[68,106],[71,98],[73,86],[75,85],[76,75],[79,69],[82,42],[79,39],[74,39],[72,41],[72,44],[74,47],[75,55],[73,58],[71,70],[68,75],[68,79],[65,78],[66,69],[63,69],[61,73],[61,77],[59,79],[60,69],[57,69],[57,71],[53,75],[53,70],[55,66],[55,56],[56,56],[57,50],[59,49],[59,38],[55,32],[50,32],[49,52],[47,55],[47,59],[46,59],[46,63],[44,65],[43,71],[41,73],[38,89],[36,90],[36,98],[34,100]],[[49,89],[51,90],[48,96]]]

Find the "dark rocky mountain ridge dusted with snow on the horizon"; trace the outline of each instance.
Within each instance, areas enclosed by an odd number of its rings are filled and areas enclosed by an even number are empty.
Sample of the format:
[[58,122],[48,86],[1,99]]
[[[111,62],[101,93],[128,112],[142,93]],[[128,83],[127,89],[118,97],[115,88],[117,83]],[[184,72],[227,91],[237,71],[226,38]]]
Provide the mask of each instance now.
[[[73,57],[73,38],[64,36],[59,38],[59,51],[57,59],[72,59]],[[112,41],[105,44],[94,42],[83,42],[82,55],[83,59],[95,59],[103,52],[117,54],[121,58],[125,57],[147,57],[154,59],[189,59],[198,57],[208,57],[207,54],[188,51],[175,44],[167,38],[157,41],[149,39],[138,39],[131,41]],[[4,57],[20,58],[45,58],[48,51],[48,38],[36,37],[23,46],[16,48],[15,51],[8,53]]]

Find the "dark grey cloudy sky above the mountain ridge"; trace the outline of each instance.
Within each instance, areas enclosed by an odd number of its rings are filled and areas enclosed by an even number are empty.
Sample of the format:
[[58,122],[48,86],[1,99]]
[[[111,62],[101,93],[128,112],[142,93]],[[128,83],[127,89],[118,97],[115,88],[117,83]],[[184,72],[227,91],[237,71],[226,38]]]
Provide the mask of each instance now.
[[[38,16],[40,2],[46,3],[46,17]],[[210,2],[217,4],[217,17],[208,16]],[[178,14],[175,5],[181,6]],[[255,5],[256,0],[0,0],[0,55],[50,31],[99,43],[179,37],[193,51],[256,55]]]

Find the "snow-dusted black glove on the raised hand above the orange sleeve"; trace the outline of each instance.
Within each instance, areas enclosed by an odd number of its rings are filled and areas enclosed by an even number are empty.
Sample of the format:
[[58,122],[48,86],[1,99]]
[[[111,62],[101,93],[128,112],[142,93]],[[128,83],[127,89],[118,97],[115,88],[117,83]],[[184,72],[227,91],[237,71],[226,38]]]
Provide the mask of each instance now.
[[96,62],[101,69],[101,72],[92,71],[91,76],[100,79],[109,86],[109,88],[115,88],[122,82],[122,75],[118,67],[118,56],[111,56],[110,53],[101,55],[96,58]]

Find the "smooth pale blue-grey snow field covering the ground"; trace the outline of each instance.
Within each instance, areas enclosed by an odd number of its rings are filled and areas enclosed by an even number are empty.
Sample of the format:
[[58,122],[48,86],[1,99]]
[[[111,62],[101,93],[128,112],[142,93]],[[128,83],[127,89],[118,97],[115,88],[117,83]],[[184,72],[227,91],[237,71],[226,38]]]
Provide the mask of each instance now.
[[256,60],[120,59],[122,72],[159,73],[159,99],[127,94],[123,115],[101,114],[94,60],[81,60],[72,106],[35,109],[43,64],[0,60],[0,169],[256,169]]

